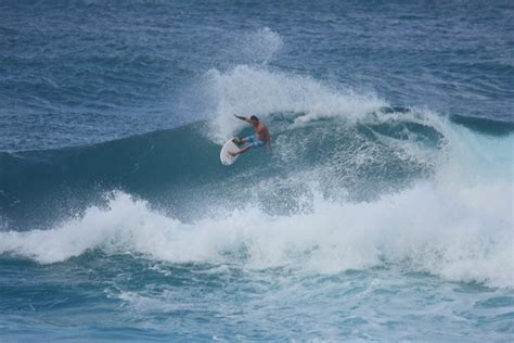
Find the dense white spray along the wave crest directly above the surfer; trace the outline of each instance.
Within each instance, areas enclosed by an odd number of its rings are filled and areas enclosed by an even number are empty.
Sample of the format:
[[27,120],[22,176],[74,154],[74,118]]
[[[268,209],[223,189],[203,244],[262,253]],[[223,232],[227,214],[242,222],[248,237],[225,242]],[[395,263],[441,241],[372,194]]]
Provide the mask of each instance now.
[[244,125],[233,114],[266,118],[274,113],[300,113],[295,118],[300,124],[322,117],[356,120],[386,105],[373,93],[360,94],[260,65],[239,65],[227,72],[210,69],[205,82],[215,109],[209,134],[219,143]]

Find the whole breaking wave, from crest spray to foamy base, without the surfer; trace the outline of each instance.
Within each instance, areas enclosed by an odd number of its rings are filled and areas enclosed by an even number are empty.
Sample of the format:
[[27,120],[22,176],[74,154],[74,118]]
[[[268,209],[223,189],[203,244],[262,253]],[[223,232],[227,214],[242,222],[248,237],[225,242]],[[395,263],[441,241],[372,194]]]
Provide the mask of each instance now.
[[[510,124],[391,106],[264,66],[206,79],[208,120],[1,153],[0,253],[55,263],[100,249],[317,272],[398,265],[514,285]],[[273,152],[222,166],[219,143],[248,132],[233,113],[269,124]]]

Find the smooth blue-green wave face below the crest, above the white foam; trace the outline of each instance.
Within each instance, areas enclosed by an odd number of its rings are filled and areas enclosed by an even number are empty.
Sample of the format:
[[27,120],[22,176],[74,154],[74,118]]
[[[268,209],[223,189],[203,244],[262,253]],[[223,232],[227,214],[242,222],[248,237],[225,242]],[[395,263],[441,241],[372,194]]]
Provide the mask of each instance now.
[[[219,163],[220,145],[208,139],[208,123],[94,145],[2,154],[4,220],[10,229],[49,228],[115,190],[182,219],[215,203],[248,201],[283,215],[301,211],[312,187],[325,196],[355,201],[401,189],[433,173],[445,145],[435,127],[407,117],[382,123],[371,113],[361,123],[320,118],[298,124],[303,115],[270,115],[273,151],[252,150],[230,168]],[[433,156],[416,158],[409,145]]]

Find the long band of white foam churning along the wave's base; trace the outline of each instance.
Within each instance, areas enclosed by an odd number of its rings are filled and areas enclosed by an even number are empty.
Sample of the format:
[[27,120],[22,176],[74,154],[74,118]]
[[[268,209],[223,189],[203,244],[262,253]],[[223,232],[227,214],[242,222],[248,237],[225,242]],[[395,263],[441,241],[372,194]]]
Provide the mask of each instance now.
[[[314,272],[397,265],[451,280],[514,287],[512,136],[452,132],[450,156],[434,179],[373,202],[316,196],[309,212],[290,216],[248,204],[184,224],[118,193],[108,209],[91,207],[51,230],[0,233],[0,253],[54,263],[102,249],[172,263]],[[489,148],[470,151],[474,145]]]

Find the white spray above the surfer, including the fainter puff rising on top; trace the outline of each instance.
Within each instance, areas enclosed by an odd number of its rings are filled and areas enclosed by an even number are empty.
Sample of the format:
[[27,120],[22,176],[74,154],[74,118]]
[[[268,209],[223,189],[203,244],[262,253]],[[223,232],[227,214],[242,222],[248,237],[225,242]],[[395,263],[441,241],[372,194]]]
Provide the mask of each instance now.
[[274,69],[269,62],[283,47],[282,37],[270,28],[237,36],[227,48],[233,66],[211,68],[202,86],[195,87],[196,97],[200,92],[197,98],[207,102],[209,138],[215,142],[222,143],[242,129],[243,123],[233,114],[267,118],[290,113],[301,124],[323,117],[356,120],[386,105],[372,92]]

